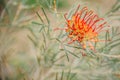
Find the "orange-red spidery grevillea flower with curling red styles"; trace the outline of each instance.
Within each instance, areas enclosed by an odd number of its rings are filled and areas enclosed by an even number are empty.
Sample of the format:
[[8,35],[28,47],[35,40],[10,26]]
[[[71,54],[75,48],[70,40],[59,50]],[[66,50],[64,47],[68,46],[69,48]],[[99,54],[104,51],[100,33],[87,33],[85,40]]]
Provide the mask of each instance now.
[[[103,31],[107,22],[103,18],[99,18],[92,10],[88,10],[87,7],[83,7],[81,10],[79,8],[80,5],[70,19],[67,19],[67,13],[64,15],[67,23],[66,32],[71,39],[69,43],[77,41],[82,43],[85,48],[86,41],[99,41],[98,34]],[[93,49],[91,44],[89,46]]]

